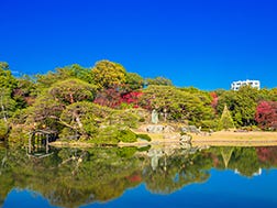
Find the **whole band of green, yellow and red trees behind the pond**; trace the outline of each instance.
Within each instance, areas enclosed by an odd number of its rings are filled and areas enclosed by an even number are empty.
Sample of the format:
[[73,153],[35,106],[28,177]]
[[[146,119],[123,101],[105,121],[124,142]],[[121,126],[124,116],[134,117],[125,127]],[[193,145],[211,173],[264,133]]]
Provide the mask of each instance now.
[[77,64],[34,76],[15,77],[0,63],[0,139],[18,141],[32,129],[59,138],[118,143],[135,141],[130,131],[151,122],[176,122],[221,130],[277,129],[277,88],[250,86],[239,91],[176,87],[164,77],[143,78],[118,63]]

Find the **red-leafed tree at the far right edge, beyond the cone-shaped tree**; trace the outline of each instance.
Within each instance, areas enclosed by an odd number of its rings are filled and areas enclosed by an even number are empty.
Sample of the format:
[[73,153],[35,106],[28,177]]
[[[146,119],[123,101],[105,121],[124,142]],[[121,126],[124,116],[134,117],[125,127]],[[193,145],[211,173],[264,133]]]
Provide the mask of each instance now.
[[262,129],[277,130],[277,101],[261,101],[255,120]]

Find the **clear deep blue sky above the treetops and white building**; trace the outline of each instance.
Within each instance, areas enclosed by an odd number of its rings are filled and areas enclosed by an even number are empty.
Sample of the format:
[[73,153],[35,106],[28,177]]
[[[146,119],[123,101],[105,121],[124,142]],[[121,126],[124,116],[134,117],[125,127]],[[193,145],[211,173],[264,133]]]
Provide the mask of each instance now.
[[0,61],[11,70],[100,59],[180,87],[277,87],[277,1],[0,0]]

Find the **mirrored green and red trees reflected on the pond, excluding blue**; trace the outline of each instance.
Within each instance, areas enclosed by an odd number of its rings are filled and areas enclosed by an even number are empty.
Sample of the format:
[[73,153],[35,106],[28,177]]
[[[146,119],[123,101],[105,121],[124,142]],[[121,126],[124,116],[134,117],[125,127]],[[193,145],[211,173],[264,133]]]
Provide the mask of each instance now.
[[[109,201],[145,184],[151,193],[170,194],[203,183],[210,169],[254,177],[277,166],[277,147],[95,147],[45,152],[0,146],[0,207],[14,188],[40,193],[51,205],[79,207]],[[44,156],[42,152],[45,153]]]

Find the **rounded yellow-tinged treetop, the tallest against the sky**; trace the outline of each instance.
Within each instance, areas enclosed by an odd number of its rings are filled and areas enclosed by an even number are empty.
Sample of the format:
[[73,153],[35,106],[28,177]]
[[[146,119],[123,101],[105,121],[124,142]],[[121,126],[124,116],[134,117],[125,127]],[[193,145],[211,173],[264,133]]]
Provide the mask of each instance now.
[[92,68],[95,84],[99,89],[120,87],[126,81],[125,68],[110,61],[100,61]]

